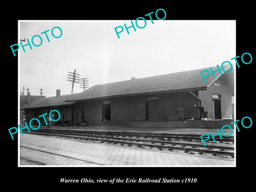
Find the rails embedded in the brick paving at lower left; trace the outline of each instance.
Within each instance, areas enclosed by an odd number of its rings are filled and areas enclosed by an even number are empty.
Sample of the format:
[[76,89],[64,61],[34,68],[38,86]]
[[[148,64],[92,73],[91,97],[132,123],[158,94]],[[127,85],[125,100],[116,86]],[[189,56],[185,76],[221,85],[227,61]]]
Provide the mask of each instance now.
[[[53,155],[54,157],[55,156],[60,156],[60,157],[64,157],[64,158],[68,158],[68,159],[74,159],[76,161],[79,161],[79,162],[85,162],[86,164],[90,164],[90,165],[103,165],[103,164],[100,164],[100,163],[95,163],[95,162],[91,162],[91,161],[86,161],[84,159],[80,159],[80,158],[76,158],[76,157],[71,157],[71,156],[67,156],[67,155],[62,155],[62,154],[57,154],[57,153],[52,153],[51,151],[47,151],[47,150],[43,150],[43,149],[36,149],[36,148],[33,148],[33,147],[28,147],[28,146],[22,146],[20,145],[21,148],[26,148],[26,149],[30,149],[30,150],[36,150],[36,151],[40,151],[40,152],[43,152],[43,153],[47,153],[47,154],[51,154]],[[27,164],[31,164],[31,165],[45,165],[44,163],[41,163],[41,162],[35,162],[35,161],[29,161],[27,159],[23,159],[22,157],[20,158],[20,161],[23,161]]]

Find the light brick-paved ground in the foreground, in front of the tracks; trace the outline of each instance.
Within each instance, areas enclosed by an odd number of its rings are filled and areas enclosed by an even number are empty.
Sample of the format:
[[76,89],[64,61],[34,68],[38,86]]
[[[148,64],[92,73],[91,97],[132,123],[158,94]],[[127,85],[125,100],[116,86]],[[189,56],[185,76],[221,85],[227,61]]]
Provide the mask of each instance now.
[[[20,158],[41,163],[36,166],[235,166],[235,162],[230,159],[103,145],[30,133],[20,134],[20,146],[23,146],[19,148]],[[101,165],[83,164],[63,155]],[[30,165],[20,161],[19,166]]]

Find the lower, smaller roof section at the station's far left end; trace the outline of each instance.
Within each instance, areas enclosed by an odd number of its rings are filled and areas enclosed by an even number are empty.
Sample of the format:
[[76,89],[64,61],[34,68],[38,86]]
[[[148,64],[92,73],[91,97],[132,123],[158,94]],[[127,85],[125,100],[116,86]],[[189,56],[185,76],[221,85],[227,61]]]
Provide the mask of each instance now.
[[[77,93],[76,93],[77,94]],[[63,105],[70,105],[75,102],[65,102],[71,96],[74,96],[75,94],[67,94],[67,95],[60,95],[60,96],[54,96],[54,97],[47,97],[47,98],[40,98],[37,99],[31,103],[29,103],[29,106],[26,105],[24,107],[21,107],[20,109],[31,109],[31,108],[41,108],[41,107],[54,107],[54,106],[63,106]]]

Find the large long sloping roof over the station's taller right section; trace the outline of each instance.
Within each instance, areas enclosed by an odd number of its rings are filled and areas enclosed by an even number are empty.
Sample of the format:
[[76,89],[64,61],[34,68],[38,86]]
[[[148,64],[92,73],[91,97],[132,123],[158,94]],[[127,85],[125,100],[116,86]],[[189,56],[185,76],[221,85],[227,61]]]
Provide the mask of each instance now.
[[[221,66],[220,66],[221,68]],[[230,66],[225,65],[223,68],[228,71]],[[217,66],[212,67],[212,70],[217,70]],[[186,90],[206,90],[216,79],[221,75],[216,72],[212,76],[205,77],[205,83],[201,76],[201,71],[209,70],[209,68],[202,68],[196,70],[182,71],[178,73],[157,75],[153,77],[131,79],[122,82],[107,83],[101,85],[94,85],[81,93],[73,95],[66,101],[79,101],[104,97],[114,97],[121,95],[133,95],[142,93],[156,93],[156,92],[170,92],[170,91],[186,91]],[[234,69],[233,69],[234,70]],[[224,72],[223,72],[224,73]],[[222,73],[222,75],[223,75]],[[206,75],[204,73],[204,75]]]

